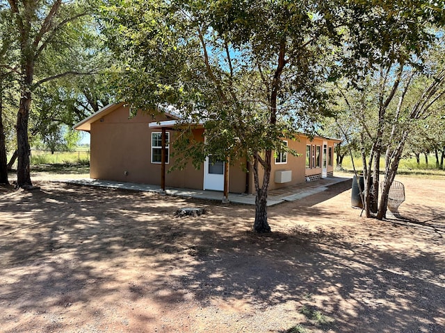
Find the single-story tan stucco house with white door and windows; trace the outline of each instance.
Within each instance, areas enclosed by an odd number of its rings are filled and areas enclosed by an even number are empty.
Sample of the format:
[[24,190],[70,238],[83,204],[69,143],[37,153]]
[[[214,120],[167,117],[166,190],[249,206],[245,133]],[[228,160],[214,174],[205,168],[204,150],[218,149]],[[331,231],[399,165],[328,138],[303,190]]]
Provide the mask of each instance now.
[[[120,182],[140,182],[161,185],[161,133],[167,142],[175,140],[172,124],[178,117],[172,112],[131,114],[125,103],[106,105],[74,126],[90,133],[90,177]],[[133,117],[130,117],[133,116]],[[195,139],[204,140],[204,128],[194,130]],[[284,140],[299,155],[280,153],[272,162],[269,189],[279,189],[306,180],[332,176],[334,145],[339,139],[300,135],[296,140]],[[210,189],[223,191],[225,172],[232,193],[254,193],[253,174],[245,171],[246,161],[236,161],[229,167],[224,162],[207,159],[200,169],[188,164],[182,170],[165,175],[167,187]],[[175,163],[170,144],[165,146],[165,164]],[[244,166],[244,167],[243,167]]]

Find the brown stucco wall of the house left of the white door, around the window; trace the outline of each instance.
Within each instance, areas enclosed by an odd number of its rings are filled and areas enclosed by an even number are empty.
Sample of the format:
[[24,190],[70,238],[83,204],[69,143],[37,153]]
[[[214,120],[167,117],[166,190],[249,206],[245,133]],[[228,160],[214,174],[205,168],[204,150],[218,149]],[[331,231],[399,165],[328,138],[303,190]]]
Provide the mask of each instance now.
[[[152,117],[143,113],[129,119],[129,108],[121,105],[92,123],[90,177],[160,185],[161,164],[151,162],[152,133],[160,129],[149,128],[148,124],[162,120],[165,116]],[[174,140],[175,131],[168,132],[170,141]],[[166,168],[173,163],[170,153]],[[165,174],[168,187],[202,189],[202,179],[202,168],[196,170],[191,164],[184,170]]]

